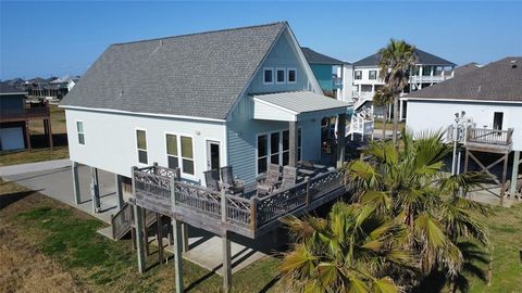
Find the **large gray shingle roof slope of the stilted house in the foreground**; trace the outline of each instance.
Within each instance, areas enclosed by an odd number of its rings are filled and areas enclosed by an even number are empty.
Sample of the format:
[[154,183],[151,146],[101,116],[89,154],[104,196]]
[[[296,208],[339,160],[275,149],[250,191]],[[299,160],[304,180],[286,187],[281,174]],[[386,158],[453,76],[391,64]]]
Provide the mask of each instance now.
[[110,46],[62,105],[224,119],[287,23]]

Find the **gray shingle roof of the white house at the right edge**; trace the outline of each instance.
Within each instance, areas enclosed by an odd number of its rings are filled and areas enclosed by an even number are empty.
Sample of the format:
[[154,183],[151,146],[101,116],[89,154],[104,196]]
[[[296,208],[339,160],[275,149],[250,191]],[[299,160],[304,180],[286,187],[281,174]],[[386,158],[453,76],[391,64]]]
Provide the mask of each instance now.
[[405,98],[522,101],[522,56],[505,58]]

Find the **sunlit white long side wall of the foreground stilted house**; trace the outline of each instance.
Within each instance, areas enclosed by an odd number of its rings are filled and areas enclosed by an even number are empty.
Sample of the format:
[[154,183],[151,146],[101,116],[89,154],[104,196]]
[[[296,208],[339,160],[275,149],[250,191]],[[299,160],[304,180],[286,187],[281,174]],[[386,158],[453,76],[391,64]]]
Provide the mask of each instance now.
[[[225,162],[224,123],[69,109],[65,117],[71,160],[111,173],[129,177],[132,166],[145,166],[138,163],[136,129],[147,131],[147,165],[157,162],[167,166],[165,133],[192,138],[195,174],[182,174],[184,179],[204,183],[202,171],[207,170],[207,140],[221,142],[220,161]],[[85,145],[78,144],[78,120],[84,123]]]

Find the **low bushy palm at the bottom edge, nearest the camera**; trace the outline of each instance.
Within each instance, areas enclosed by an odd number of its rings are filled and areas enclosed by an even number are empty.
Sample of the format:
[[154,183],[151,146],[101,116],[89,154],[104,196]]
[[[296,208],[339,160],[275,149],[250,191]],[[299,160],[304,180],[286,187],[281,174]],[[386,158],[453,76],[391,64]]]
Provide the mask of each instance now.
[[283,220],[296,244],[279,266],[282,284],[299,292],[399,292],[389,277],[408,270],[406,226],[371,206],[336,203],[327,219]]

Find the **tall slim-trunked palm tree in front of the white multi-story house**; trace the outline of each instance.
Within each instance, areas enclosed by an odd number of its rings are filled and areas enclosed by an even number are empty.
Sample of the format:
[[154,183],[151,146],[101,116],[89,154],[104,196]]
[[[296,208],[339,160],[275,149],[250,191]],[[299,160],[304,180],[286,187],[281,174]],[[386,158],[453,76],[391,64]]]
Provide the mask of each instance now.
[[410,68],[415,65],[415,47],[403,40],[390,39],[388,44],[378,51],[380,76],[394,95],[394,135],[393,141],[397,145],[399,123],[399,94],[408,86]]

